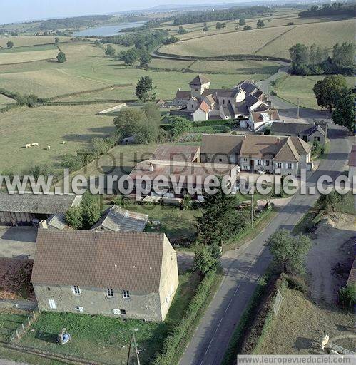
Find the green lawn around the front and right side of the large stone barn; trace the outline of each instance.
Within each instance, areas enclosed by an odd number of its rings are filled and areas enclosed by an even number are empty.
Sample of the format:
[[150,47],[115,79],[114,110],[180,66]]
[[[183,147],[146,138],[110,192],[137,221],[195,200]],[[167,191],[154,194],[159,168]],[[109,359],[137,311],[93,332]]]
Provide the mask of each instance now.
[[[44,312],[34,324],[35,331],[29,331],[20,344],[107,364],[124,364],[132,330],[138,329],[135,336],[141,350],[140,360],[142,364],[148,364],[153,355],[161,350],[163,339],[179,323],[200,280],[198,274],[190,273],[180,275],[179,279],[178,292],[165,322]],[[72,341],[66,346],[59,346],[56,335],[63,327],[71,334]]]

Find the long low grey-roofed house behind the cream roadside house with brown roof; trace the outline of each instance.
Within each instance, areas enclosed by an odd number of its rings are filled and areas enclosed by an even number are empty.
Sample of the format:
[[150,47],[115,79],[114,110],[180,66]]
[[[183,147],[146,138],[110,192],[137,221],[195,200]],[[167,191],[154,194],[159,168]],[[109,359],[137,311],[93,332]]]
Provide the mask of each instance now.
[[275,121],[270,128],[273,135],[285,135],[299,137],[305,142],[313,143],[315,140],[325,145],[326,126],[314,123],[295,123]]

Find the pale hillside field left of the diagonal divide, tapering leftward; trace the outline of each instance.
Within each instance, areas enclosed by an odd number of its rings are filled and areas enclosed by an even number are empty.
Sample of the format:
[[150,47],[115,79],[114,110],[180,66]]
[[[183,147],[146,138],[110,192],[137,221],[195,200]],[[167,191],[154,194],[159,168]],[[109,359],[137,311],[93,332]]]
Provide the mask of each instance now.
[[268,41],[280,36],[288,27],[278,26],[269,29],[252,29],[235,33],[217,34],[203,38],[190,39],[163,46],[160,51],[183,56],[221,56],[228,54],[253,54]]

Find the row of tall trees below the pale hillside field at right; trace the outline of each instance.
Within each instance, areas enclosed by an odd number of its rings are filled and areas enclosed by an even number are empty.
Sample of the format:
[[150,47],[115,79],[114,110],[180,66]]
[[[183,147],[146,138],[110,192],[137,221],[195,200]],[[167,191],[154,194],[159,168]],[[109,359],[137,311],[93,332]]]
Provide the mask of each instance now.
[[342,73],[352,76],[355,73],[354,53],[352,43],[337,43],[332,47],[332,56],[327,48],[317,44],[310,47],[297,43],[289,50],[294,75],[320,75]]

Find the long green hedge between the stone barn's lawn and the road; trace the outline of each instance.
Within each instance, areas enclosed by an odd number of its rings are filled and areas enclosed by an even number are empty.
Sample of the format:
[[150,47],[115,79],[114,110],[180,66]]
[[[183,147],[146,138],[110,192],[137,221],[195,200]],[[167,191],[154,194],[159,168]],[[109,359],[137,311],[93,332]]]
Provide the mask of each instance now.
[[189,304],[185,316],[168,335],[163,342],[162,351],[151,362],[151,365],[174,365],[178,364],[180,356],[183,354],[185,345],[190,341],[196,324],[203,316],[204,309],[208,307],[209,297],[213,294],[213,287],[217,287],[220,281],[220,271],[212,270],[205,274],[204,279],[200,282],[195,296]]

